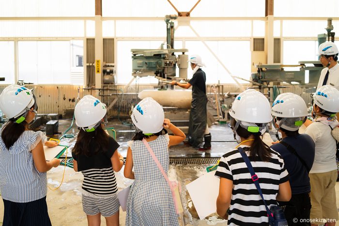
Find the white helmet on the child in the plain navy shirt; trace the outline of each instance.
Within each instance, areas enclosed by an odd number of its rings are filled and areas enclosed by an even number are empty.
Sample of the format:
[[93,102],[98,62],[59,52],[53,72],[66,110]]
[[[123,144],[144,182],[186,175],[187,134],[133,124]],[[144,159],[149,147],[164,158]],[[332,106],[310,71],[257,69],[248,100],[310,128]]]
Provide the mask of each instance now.
[[289,131],[296,131],[307,119],[307,106],[304,99],[299,95],[285,92],[278,95],[273,102],[272,115],[277,118],[282,118],[276,121],[278,127],[276,127],[276,123],[273,122],[273,125],[277,128],[277,132],[280,127]]

